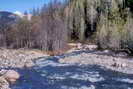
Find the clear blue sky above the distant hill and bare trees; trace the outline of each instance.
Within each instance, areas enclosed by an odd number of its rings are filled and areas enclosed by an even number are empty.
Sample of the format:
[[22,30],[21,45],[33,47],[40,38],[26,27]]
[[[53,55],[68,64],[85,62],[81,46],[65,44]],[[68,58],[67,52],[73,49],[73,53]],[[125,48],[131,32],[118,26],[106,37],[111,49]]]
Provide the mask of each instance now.
[[38,8],[50,0],[0,0],[0,11],[25,12]]

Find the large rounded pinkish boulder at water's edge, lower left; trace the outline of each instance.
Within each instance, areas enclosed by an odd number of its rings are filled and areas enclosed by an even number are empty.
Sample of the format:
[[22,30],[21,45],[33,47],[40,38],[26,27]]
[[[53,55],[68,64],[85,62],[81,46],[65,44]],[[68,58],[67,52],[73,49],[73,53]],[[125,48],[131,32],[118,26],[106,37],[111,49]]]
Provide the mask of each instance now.
[[14,70],[8,70],[3,77],[10,83],[15,83],[19,78],[20,75],[18,72],[14,71]]

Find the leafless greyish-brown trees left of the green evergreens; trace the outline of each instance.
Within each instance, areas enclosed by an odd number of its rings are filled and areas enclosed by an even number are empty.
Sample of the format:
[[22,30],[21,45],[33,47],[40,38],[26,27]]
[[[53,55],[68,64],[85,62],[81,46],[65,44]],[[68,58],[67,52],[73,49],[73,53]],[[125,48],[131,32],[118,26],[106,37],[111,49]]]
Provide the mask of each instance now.
[[3,27],[0,46],[7,48],[38,48],[45,51],[65,49],[67,27],[63,18],[64,4],[55,0],[32,11],[32,18],[20,19],[16,24]]

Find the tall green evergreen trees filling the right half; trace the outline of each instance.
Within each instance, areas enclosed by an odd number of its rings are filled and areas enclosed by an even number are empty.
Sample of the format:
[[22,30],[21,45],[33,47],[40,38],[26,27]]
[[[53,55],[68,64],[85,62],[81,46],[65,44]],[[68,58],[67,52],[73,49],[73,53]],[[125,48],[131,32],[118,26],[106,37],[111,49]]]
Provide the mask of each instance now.
[[80,42],[133,53],[133,0],[69,0],[68,29]]

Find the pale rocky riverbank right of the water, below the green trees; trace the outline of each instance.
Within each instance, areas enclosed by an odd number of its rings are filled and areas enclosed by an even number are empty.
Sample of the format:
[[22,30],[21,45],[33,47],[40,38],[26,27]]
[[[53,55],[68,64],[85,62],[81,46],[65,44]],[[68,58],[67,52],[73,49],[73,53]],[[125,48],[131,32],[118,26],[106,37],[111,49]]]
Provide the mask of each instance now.
[[125,52],[115,53],[110,50],[97,50],[97,46],[77,46],[68,51],[70,56],[59,60],[60,63],[79,65],[99,65],[114,71],[133,74],[133,58]]

